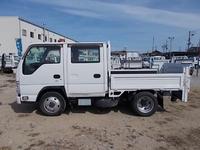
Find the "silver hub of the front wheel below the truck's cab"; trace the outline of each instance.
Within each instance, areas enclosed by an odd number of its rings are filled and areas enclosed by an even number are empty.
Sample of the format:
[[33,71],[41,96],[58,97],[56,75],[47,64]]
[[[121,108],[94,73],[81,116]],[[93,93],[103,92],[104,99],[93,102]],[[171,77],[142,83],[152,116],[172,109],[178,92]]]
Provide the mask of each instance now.
[[49,113],[56,113],[60,109],[60,101],[57,97],[47,97],[44,100],[44,109]]

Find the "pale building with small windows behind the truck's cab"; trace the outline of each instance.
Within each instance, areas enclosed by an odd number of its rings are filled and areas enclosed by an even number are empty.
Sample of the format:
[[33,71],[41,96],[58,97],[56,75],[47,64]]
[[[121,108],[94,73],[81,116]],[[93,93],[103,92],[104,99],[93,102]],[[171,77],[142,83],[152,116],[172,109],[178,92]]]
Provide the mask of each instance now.
[[0,56],[22,55],[32,43],[76,42],[75,40],[17,16],[0,17]]

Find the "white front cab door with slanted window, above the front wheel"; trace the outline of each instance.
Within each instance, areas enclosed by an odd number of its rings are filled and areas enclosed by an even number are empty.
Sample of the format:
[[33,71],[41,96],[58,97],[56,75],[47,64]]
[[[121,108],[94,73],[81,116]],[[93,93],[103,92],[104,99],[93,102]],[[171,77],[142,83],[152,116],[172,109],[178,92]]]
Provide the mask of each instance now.
[[31,94],[32,100],[35,100],[44,87],[64,86],[62,55],[62,45],[32,45],[28,49],[20,75],[24,95]]

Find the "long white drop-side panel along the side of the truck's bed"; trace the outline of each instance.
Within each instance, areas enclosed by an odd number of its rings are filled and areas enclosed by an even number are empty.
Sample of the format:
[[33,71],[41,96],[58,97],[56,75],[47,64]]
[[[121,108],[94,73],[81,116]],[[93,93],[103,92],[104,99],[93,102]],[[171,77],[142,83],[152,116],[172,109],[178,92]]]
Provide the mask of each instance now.
[[183,74],[111,74],[111,90],[181,89]]

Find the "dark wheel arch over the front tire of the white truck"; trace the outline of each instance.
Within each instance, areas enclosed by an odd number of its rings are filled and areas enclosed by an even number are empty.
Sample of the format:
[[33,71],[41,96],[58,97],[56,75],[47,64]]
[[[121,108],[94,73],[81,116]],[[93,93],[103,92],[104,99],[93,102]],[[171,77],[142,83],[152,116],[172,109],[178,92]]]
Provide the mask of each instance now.
[[40,90],[39,94],[37,95],[36,102],[38,102],[42,95],[47,92],[58,92],[64,97],[65,100],[67,100],[67,94],[64,86],[46,86]]

